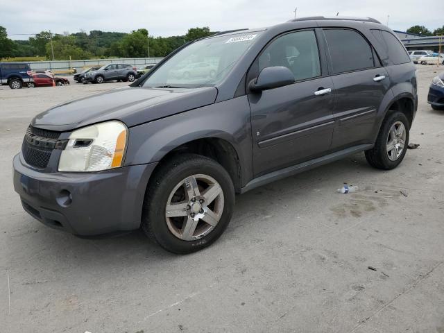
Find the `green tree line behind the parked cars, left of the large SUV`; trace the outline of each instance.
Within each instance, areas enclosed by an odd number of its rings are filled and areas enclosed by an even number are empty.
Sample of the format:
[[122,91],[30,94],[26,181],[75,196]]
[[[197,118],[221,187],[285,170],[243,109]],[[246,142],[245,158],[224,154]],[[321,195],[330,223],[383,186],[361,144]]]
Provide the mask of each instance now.
[[0,26],[0,59],[39,56],[52,60],[52,53],[54,60],[144,58],[148,56],[148,44],[150,57],[164,57],[191,40],[212,34],[214,32],[205,26],[190,28],[186,35],[171,37],[153,37],[142,28],[131,33],[93,30],[51,35],[49,31],[42,31],[28,40],[10,40],[6,28]]

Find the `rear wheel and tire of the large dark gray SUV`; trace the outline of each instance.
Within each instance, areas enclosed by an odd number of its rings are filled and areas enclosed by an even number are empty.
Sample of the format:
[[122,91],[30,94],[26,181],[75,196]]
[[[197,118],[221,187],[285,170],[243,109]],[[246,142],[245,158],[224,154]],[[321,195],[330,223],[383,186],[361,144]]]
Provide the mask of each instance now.
[[[396,135],[393,133],[393,126],[395,126]],[[404,131],[400,135],[399,132],[402,126],[404,126]],[[391,170],[398,167],[404,159],[407,146],[409,146],[409,131],[409,120],[404,113],[395,111],[388,114],[384,121],[382,121],[375,146],[365,153],[368,164],[383,170]],[[398,135],[400,136],[398,137]],[[404,142],[403,145],[402,142]],[[393,148],[388,151],[391,146]],[[402,148],[402,151],[399,151],[399,148]]]

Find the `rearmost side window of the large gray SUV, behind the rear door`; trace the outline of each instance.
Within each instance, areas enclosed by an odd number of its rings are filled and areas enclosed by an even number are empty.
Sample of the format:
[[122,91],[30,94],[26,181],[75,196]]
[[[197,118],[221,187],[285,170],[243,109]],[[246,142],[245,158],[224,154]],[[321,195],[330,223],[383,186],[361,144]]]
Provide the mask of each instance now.
[[[384,51],[384,59],[388,60],[388,65],[399,65],[411,62],[409,54],[402,46],[401,42],[394,35],[384,30],[372,30],[372,34],[375,36],[379,45]],[[416,56],[425,54],[425,51],[416,51]]]

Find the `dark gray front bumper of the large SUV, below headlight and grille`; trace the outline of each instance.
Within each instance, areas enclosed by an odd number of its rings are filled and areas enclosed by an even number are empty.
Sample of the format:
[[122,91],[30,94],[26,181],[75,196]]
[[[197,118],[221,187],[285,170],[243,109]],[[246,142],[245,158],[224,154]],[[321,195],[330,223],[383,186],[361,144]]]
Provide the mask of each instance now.
[[157,163],[96,173],[43,173],[13,160],[14,188],[24,210],[51,228],[93,236],[139,228]]

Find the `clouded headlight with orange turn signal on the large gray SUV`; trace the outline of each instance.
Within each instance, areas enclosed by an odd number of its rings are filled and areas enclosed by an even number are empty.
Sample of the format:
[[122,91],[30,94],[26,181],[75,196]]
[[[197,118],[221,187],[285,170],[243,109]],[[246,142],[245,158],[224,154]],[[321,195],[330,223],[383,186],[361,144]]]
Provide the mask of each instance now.
[[126,136],[126,126],[120,121],[74,130],[60,155],[58,171],[87,172],[121,167]]

